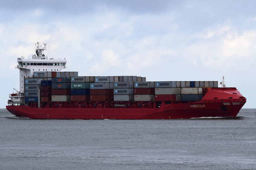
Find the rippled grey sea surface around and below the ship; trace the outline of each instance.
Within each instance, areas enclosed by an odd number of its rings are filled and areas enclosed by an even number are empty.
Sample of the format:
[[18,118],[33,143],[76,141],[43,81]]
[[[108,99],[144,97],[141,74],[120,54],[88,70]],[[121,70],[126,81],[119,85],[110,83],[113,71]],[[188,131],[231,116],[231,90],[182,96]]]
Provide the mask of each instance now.
[[256,169],[256,109],[172,120],[33,120],[0,109],[0,169]]

